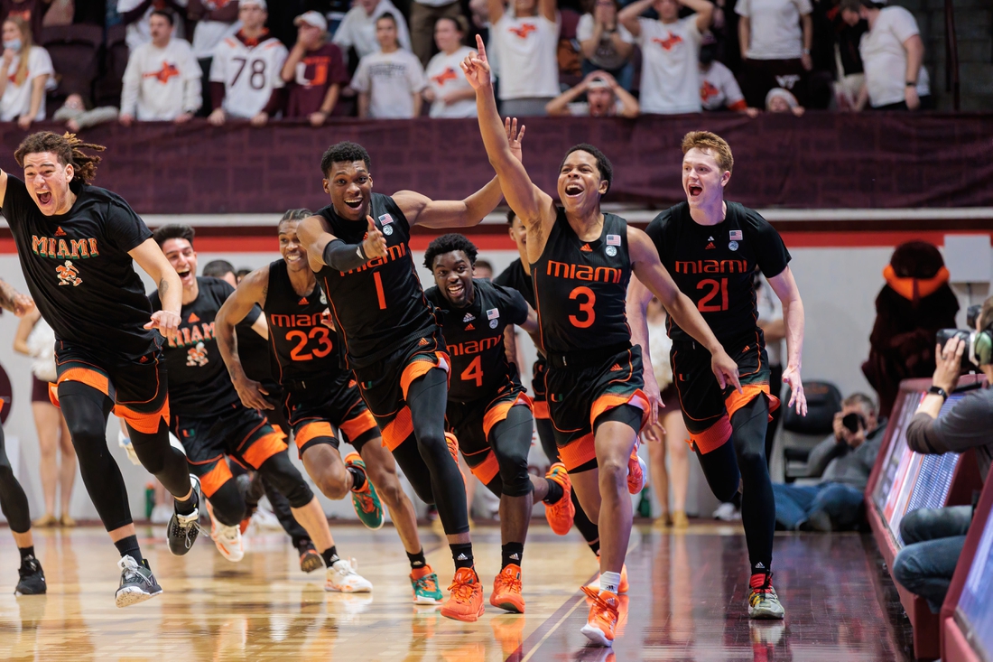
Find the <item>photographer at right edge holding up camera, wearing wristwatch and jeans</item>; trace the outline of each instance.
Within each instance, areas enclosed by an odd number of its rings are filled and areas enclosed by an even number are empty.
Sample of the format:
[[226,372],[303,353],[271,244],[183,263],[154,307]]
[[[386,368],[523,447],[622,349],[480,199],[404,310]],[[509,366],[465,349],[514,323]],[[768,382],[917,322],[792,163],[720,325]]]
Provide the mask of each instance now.
[[[907,427],[907,445],[928,454],[975,448],[985,482],[993,459],[993,297],[983,303],[974,331],[944,329],[938,331],[937,339],[932,386]],[[962,370],[977,368],[986,375],[986,388],[967,394],[939,417]],[[893,577],[924,597],[934,613],[948,591],[972,511],[972,506],[922,508],[909,513],[900,525],[906,547],[894,561]]]

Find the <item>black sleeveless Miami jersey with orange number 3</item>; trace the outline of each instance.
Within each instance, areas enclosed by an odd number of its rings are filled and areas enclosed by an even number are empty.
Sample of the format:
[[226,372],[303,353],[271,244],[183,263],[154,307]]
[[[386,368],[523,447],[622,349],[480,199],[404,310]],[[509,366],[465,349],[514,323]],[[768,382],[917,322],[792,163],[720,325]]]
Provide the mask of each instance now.
[[628,222],[604,215],[600,238],[582,242],[558,210],[545,249],[531,264],[541,344],[565,353],[631,341],[625,298],[631,280]]

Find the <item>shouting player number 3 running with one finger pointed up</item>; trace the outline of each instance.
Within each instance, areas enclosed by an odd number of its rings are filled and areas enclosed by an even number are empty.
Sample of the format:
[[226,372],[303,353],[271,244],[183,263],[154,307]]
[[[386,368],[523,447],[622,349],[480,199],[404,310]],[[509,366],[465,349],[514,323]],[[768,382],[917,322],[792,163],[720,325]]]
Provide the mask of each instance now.
[[618,216],[601,213],[600,199],[610,188],[613,171],[599,149],[581,144],[566,154],[558,177],[561,208],[531,183],[503,139],[482,39],[477,46],[479,55],[467,57],[462,68],[476,89],[490,162],[510,208],[527,229],[540,340],[549,364],[549,414],[579,502],[600,526],[600,590],[584,587],[593,604],[582,631],[609,646],[631,537],[629,460],[649,416],[641,391],[641,354],[632,347],[625,314],[632,271],[711,350],[711,369],[722,388],[737,384],[737,367],[672,282],[644,233]]

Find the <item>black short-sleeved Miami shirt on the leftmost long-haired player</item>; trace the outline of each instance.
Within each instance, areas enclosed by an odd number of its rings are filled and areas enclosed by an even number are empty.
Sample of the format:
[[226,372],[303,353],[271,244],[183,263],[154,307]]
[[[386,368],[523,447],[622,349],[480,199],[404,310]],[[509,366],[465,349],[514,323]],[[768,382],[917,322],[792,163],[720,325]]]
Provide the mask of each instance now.
[[7,174],[2,212],[28,291],[56,338],[97,356],[138,361],[155,351],[152,309],[129,250],[152,237],[118,195],[82,185],[67,214],[45,216]]

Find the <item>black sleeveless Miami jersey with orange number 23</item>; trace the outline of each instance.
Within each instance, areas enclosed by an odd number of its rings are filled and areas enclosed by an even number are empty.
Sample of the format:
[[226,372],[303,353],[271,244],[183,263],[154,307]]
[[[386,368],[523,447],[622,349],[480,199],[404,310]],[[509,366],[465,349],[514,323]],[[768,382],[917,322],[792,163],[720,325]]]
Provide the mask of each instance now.
[[341,372],[338,334],[322,323],[328,313],[328,298],[317,284],[303,296],[293,289],[286,261],[269,264],[265,319],[269,323],[269,343],[279,364],[278,379],[284,386],[291,380],[331,379]]

